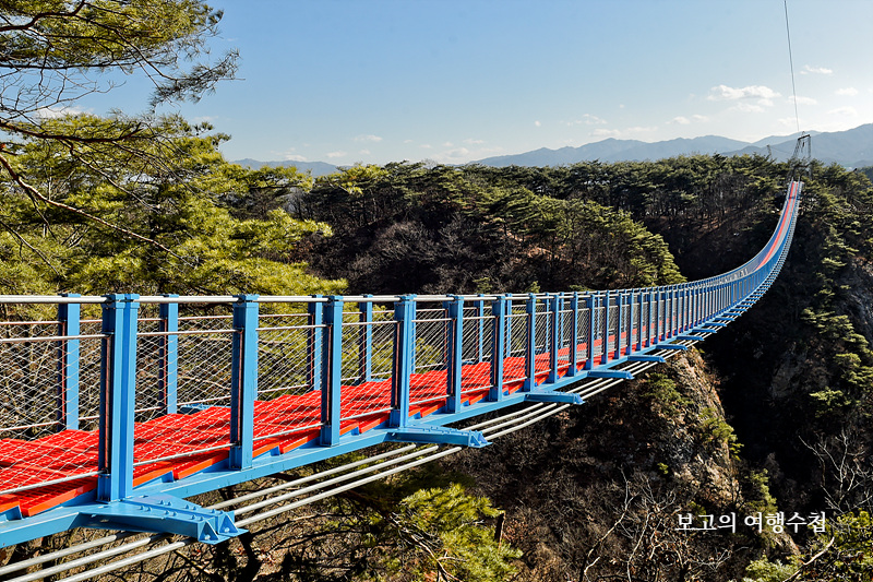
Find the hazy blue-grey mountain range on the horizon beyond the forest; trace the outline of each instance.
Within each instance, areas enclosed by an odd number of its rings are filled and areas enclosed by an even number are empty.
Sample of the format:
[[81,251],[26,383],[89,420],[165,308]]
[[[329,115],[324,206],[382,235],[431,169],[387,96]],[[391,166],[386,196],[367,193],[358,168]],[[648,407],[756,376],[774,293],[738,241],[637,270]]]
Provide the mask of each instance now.
[[[846,131],[829,133],[811,132],[812,155],[826,164],[837,163],[848,168],[873,166],[873,123],[859,126]],[[577,162],[641,162],[645,159],[662,159],[679,155],[721,154],[726,156],[742,154],[770,155],[786,161],[794,152],[797,135],[774,135],[754,143],[705,135],[694,139],[678,139],[662,142],[641,142],[638,140],[608,139],[588,143],[579,147],[561,147],[549,150],[540,147],[533,152],[495,157],[487,157],[476,162],[485,166],[561,166]],[[313,176],[324,176],[336,171],[337,167],[324,162],[258,162],[256,159],[239,159],[236,164],[249,167],[295,166],[301,171],[311,171]]]

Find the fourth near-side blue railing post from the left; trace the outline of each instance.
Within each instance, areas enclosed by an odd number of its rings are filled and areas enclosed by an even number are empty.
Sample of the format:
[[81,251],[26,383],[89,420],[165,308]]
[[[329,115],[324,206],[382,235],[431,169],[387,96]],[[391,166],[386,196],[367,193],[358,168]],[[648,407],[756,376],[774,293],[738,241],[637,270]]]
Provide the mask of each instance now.
[[415,295],[404,295],[394,304],[394,364],[391,375],[392,427],[405,427],[409,420],[409,391],[415,366]]

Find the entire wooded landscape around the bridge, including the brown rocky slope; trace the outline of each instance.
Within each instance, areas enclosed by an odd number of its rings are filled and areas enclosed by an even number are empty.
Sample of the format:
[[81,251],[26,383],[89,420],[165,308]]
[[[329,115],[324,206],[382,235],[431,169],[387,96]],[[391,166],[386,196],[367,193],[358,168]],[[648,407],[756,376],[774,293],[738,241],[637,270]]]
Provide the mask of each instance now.
[[[0,29],[3,295],[669,284],[753,256],[784,194],[788,165],[762,156],[500,169],[396,163],[318,179],[247,169],[223,158],[226,135],[156,112],[234,76],[238,56],[208,51],[220,11],[196,1],[13,4]],[[145,71],[154,83],[145,114],[71,107],[110,92],[113,71]],[[689,354],[487,449],[112,575],[870,580],[871,174],[813,163],[780,276]],[[5,319],[33,316],[2,309]],[[788,525],[822,512],[817,531]],[[740,525],[683,530],[682,515],[733,515]],[[787,520],[754,528],[754,515]],[[88,535],[36,539],[3,549],[0,561]]]

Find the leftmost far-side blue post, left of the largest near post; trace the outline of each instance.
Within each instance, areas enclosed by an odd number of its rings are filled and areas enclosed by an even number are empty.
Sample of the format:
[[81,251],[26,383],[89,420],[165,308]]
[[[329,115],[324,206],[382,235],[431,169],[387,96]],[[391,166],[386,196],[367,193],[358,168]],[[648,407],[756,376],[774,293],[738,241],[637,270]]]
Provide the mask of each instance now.
[[[80,297],[77,293],[62,293],[61,297]],[[58,335],[76,336],[81,333],[81,306],[58,304]],[[58,342],[58,425],[61,430],[79,429],[79,340]]]

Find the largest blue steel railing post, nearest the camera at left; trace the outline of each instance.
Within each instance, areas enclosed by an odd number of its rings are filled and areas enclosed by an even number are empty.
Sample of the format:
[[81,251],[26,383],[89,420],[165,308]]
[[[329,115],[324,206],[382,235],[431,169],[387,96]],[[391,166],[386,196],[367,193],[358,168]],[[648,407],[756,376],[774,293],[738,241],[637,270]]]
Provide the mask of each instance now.
[[133,492],[133,409],[139,295],[107,295],[103,304],[97,500]]

